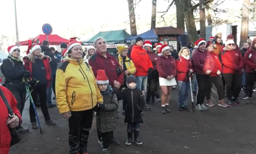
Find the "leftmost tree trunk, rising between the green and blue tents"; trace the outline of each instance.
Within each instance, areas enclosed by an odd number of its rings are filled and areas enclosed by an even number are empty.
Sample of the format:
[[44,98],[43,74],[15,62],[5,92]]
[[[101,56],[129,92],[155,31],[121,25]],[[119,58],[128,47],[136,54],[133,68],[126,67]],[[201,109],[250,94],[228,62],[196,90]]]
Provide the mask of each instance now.
[[137,27],[136,27],[134,3],[133,3],[133,0],[127,0],[127,1],[128,1],[128,8],[129,8],[131,35],[136,36],[137,35]]

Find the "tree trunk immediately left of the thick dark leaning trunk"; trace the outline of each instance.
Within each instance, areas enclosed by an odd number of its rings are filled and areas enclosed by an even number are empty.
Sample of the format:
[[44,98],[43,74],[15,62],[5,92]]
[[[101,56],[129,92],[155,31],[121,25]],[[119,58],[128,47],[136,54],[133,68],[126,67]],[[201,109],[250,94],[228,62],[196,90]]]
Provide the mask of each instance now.
[[185,31],[184,13],[182,8],[183,6],[181,0],[176,0],[177,28],[182,28]]

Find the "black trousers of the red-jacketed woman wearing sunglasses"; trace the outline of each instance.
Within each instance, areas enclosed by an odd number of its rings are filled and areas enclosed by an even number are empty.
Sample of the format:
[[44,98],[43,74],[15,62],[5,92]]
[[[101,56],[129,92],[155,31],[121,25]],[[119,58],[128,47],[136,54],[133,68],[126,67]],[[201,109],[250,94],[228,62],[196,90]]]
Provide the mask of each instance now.
[[242,74],[223,74],[226,81],[226,94],[228,99],[239,97],[242,86]]

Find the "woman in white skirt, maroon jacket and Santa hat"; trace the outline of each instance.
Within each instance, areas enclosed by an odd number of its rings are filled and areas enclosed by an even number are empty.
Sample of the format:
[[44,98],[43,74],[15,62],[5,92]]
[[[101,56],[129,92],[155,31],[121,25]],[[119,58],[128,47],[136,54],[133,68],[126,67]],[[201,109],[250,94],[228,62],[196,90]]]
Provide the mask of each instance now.
[[175,59],[170,55],[170,47],[163,45],[160,48],[162,55],[157,58],[157,71],[159,72],[159,85],[162,90],[162,114],[170,112],[168,108],[171,99],[172,86],[176,85],[177,74]]

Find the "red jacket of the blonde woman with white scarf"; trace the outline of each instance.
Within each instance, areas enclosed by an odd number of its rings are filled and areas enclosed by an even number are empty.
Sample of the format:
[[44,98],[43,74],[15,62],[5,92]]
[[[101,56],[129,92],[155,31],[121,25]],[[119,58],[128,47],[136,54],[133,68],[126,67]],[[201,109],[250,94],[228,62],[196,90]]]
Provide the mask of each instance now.
[[[176,68],[177,68],[177,80],[188,82],[189,81],[188,74],[190,73],[190,69],[193,70],[191,59],[185,59],[183,56],[180,56],[176,60]],[[191,77],[191,80],[193,80],[192,74],[190,75],[190,77]]]

